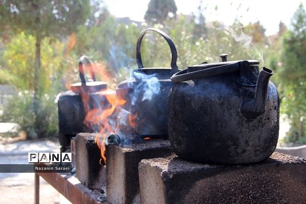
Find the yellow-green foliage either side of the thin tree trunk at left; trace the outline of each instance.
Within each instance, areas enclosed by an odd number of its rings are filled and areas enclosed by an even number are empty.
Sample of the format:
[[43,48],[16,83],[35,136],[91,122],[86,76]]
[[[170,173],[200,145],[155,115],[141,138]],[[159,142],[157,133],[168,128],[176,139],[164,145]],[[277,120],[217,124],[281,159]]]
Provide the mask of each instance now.
[[[54,86],[52,82],[62,72],[63,49],[64,44],[58,40],[45,38],[42,41],[41,80],[39,81],[39,86],[44,91]],[[32,67],[34,66],[33,61],[35,58],[35,37],[21,32],[4,45],[2,55],[2,74],[0,77],[6,78],[8,84],[16,86],[19,90],[34,90]],[[45,93],[44,91],[42,90],[42,93]]]

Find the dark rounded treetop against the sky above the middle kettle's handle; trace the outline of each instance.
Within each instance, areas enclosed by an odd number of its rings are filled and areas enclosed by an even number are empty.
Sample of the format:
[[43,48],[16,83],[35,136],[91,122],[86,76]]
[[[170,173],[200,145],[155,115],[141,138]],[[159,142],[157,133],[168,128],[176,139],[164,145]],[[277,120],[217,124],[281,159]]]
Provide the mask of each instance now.
[[174,0],[150,0],[144,19],[151,23],[163,24],[165,20],[176,16]]

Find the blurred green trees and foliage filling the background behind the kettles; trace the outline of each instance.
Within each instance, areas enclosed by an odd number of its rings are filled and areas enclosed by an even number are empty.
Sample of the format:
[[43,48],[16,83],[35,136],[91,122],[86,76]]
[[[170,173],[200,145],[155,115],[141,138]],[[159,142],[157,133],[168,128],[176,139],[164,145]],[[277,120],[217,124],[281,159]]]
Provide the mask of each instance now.
[[[196,15],[174,19],[177,8],[173,0],[151,0],[145,14],[147,23],[141,25],[119,23],[101,6],[103,0],[1,3],[5,6],[0,8],[0,24],[7,29],[2,32],[0,44],[0,82],[14,84],[20,91],[10,101],[2,120],[18,122],[29,137],[55,133],[55,95],[65,84],[79,81],[81,55],[99,64],[96,73],[100,80],[115,89],[129,77],[131,69],[137,68],[135,46],[141,30],[154,26],[172,38],[180,69],[204,61],[219,62],[222,53],[228,54],[229,61],[255,59],[261,61],[261,66],[268,65],[276,72],[271,80],[281,94],[281,112],[291,121],[288,139],[305,142],[306,17],[302,5],[294,14],[290,30],[280,23],[278,35],[268,38],[259,21],[244,26],[237,18],[230,27],[218,21],[206,23],[201,3]],[[92,13],[88,17],[89,5]],[[33,10],[33,6],[39,8]],[[29,10],[34,12],[23,19],[21,8],[27,9],[26,15]],[[16,13],[18,9],[22,12]],[[37,42],[41,42],[39,60]],[[141,54],[145,67],[170,66],[169,46],[155,32],[148,32],[143,38]],[[37,65],[41,68],[37,69]],[[36,91],[40,101],[38,112],[33,108]]]

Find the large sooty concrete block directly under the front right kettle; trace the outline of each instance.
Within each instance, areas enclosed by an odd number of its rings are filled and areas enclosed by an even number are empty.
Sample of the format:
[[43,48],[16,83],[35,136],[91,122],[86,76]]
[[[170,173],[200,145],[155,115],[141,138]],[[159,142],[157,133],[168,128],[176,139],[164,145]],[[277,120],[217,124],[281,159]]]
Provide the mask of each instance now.
[[274,152],[249,165],[142,160],[141,203],[306,203],[306,160]]

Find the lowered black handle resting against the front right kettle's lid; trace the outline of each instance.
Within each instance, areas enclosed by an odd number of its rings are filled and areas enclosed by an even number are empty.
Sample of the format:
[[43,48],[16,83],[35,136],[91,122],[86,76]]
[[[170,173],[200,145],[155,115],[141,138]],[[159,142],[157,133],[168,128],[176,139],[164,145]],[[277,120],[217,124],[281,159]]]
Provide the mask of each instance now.
[[238,71],[238,70],[240,70],[240,62],[226,64],[226,65],[217,66],[217,67],[211,67],[207,69],[201,69],[201,70],[192,71],[192,72],[188,72],[188,69],[185,69],[183,71],[173,74],[171,77],[171,81],[174,83],[179,83],[179,82],[184,82],[188,80],[199,79],[203,77],[210,77],[213,75],[223,74],[223,73],[228,73],[228,72]]

